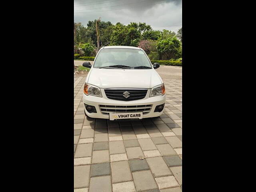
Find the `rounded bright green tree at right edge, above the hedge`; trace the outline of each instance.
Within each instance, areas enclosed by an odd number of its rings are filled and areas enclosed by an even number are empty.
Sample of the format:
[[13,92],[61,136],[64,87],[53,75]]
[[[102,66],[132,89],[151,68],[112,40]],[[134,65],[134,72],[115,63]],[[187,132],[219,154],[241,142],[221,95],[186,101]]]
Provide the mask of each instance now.
[[156,45],[156,49],[159,52],[160,59],[162,56],[166,56],[167,60],[170,58],[178,58],[179,51],[180,51],[180,41],[174,36],[172,38],[167,38],[158,41]]

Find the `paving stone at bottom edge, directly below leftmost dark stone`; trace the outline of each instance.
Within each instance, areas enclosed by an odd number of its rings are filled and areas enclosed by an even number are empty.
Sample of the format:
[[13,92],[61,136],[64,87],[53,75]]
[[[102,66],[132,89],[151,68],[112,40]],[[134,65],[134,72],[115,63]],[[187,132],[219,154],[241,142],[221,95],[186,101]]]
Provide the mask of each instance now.
[[110,176],[92,177],[89,192],[112,192]]

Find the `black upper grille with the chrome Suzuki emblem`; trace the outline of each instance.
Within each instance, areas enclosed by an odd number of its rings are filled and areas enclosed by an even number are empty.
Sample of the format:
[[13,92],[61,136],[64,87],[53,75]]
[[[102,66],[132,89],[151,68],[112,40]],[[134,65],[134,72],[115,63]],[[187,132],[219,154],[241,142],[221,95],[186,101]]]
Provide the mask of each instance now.
[[[107,98],[120,101],[133,101],[145,98],[148,89],[104,89]],[[125,94],[125,92],[128,92]],[[128,96],[127,98],[124,96]]]

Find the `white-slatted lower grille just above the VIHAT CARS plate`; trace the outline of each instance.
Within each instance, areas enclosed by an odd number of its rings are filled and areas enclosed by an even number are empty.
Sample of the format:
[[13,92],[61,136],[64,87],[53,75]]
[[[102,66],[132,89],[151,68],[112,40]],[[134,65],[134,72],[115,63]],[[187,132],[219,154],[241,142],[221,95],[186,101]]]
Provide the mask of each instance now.
[[109,113],[125,113],[125,112],[150,112],[152,105],[131,105],[131,106],[115,106],[115,105],[100,105],[100,111],[103,114]]

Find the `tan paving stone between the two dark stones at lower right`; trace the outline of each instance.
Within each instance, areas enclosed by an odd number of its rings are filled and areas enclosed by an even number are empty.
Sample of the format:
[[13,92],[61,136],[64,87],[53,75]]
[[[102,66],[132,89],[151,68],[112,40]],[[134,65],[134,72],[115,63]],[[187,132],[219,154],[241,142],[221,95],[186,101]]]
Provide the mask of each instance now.
[[162,157],[147,158],[146,160],[154,177],[172,175]]

